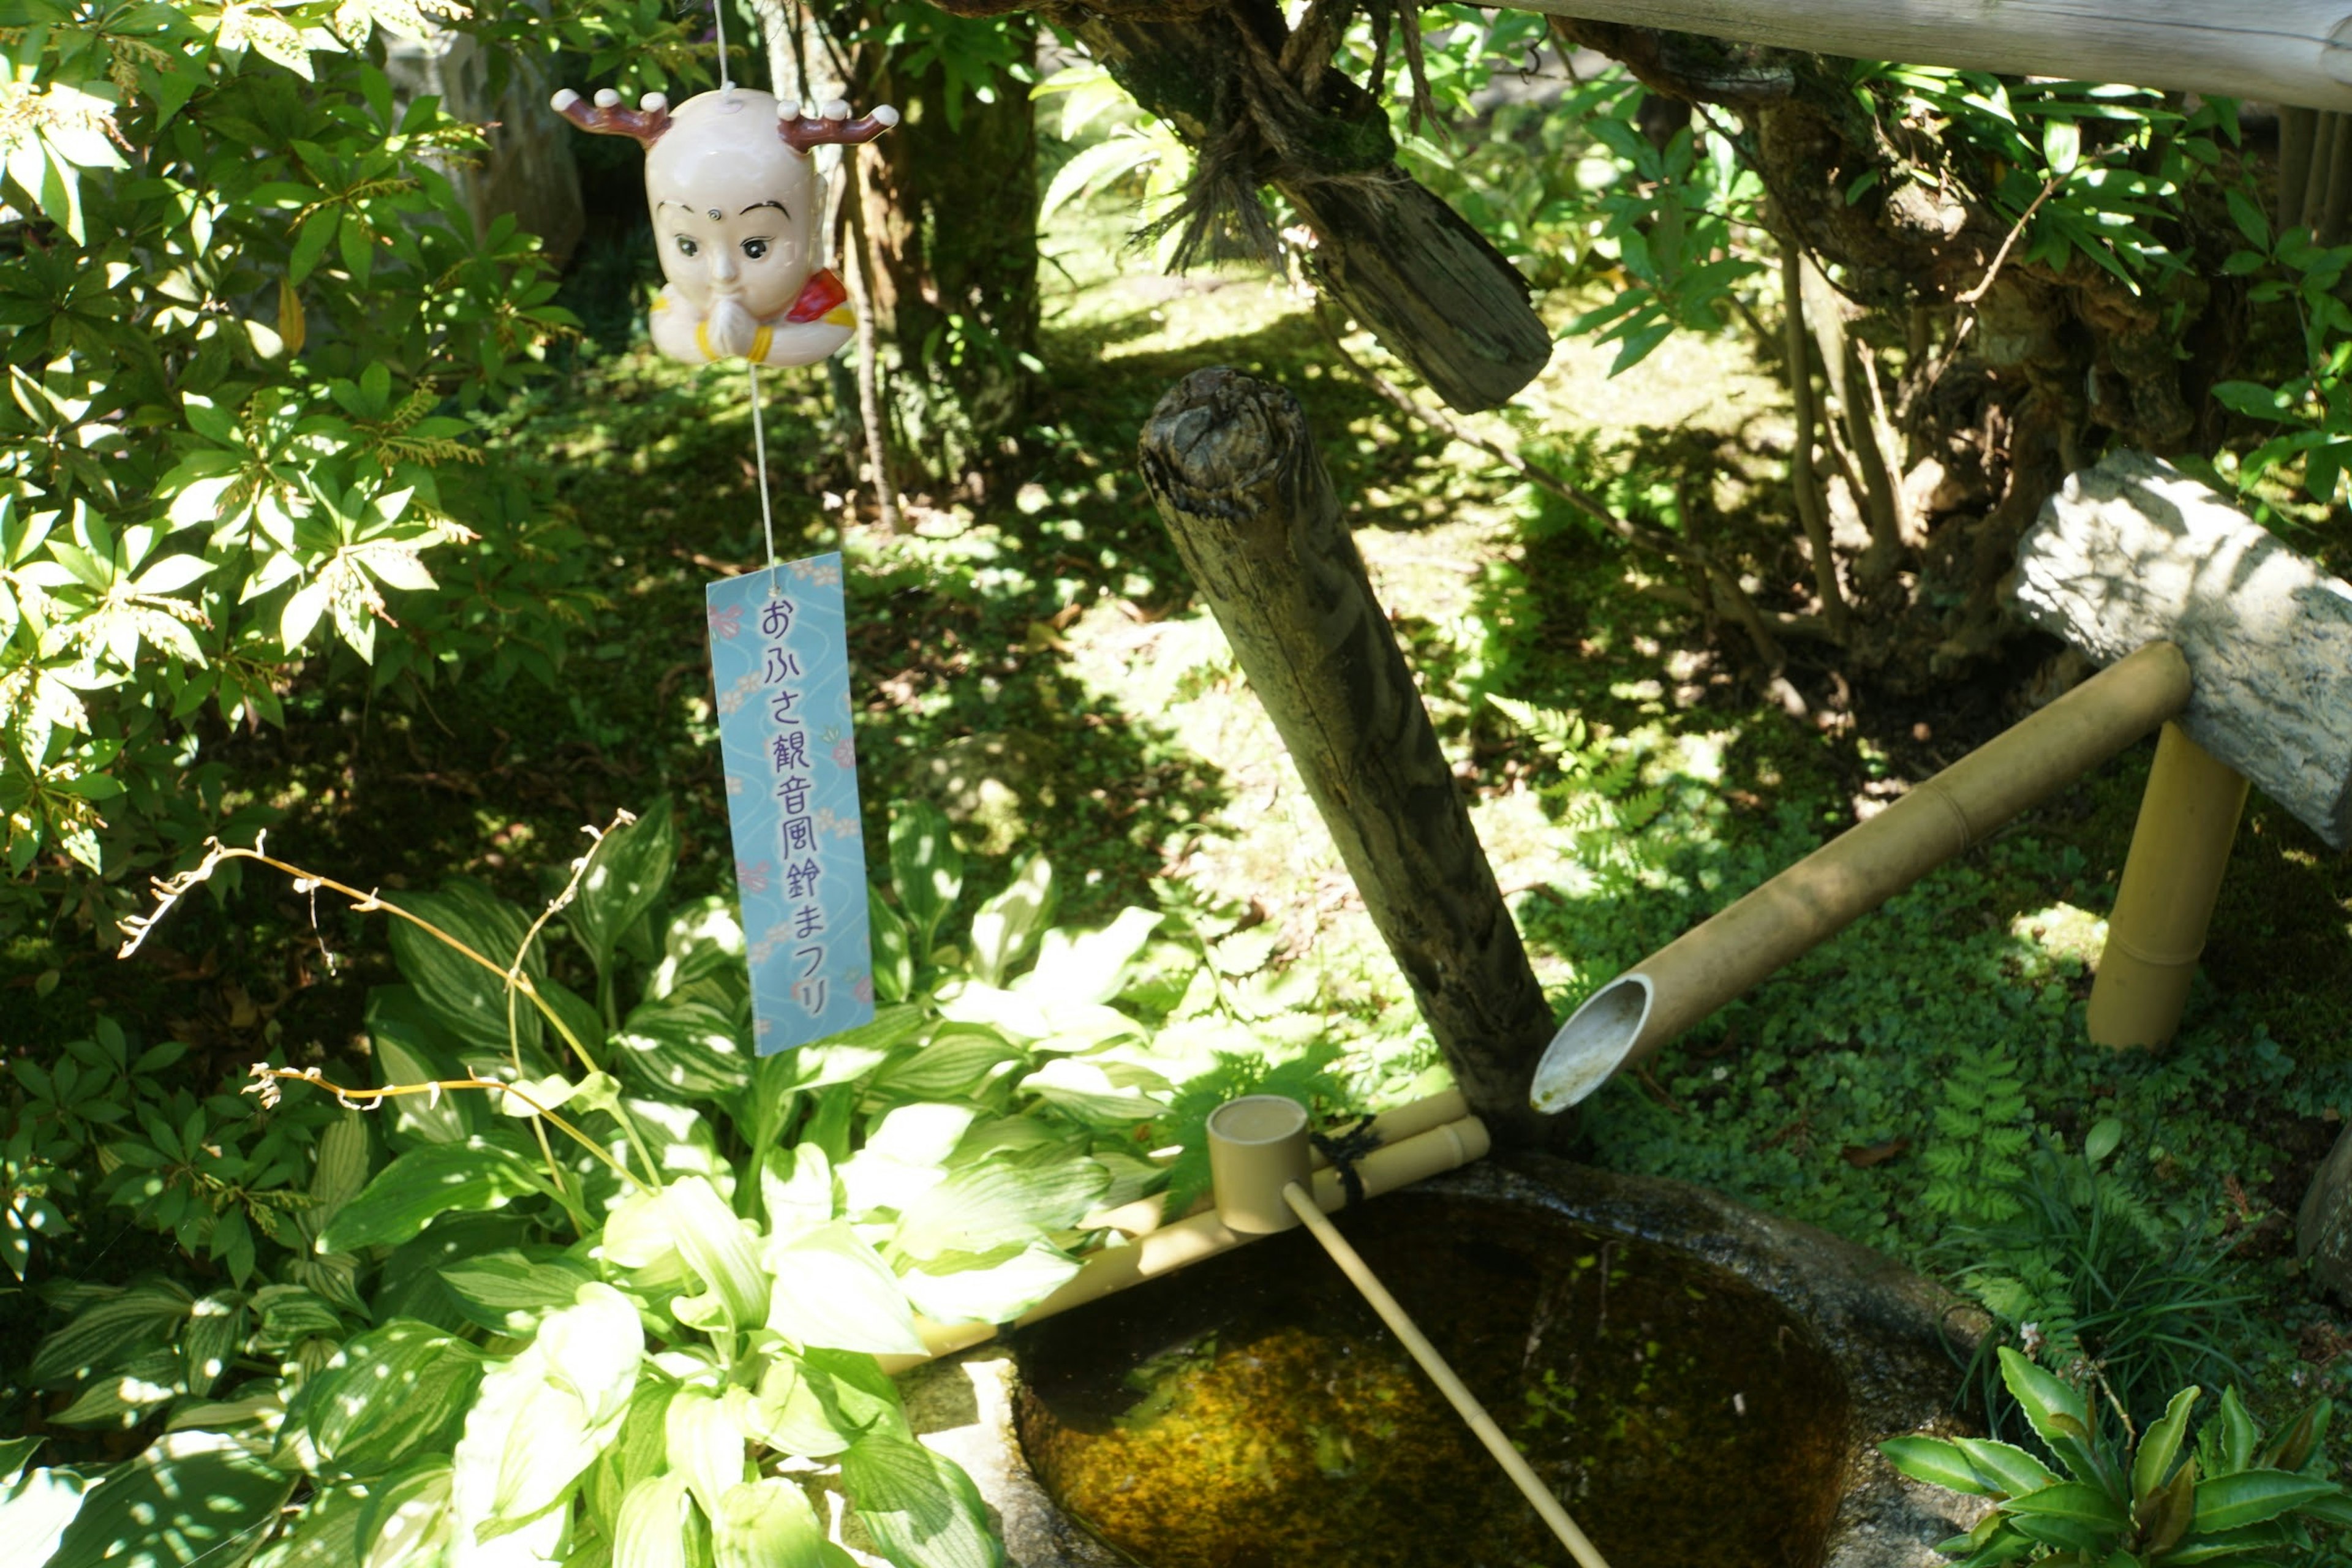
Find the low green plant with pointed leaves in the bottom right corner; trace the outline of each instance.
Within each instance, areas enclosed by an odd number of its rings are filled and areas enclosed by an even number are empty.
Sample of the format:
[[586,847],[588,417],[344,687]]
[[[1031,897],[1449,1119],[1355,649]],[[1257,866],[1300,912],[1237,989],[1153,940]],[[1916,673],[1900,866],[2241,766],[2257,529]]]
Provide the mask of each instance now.
[[1938,1547],[1962,1568],[2256,1568],[2312,1552],[2314,1523],[2352,1523],[2352,1502],[2328,1481],[2324,1399],[2265,1441],[2230,1389],[2190,1443],[2199,1399],[2190,1387],[2131,1441],[2129,1432],[2103,1432],[2098,1399],[2006,1347],[2002,1375],[2060,1469],[1990,1439],[1879,1443],[1905,1476],[1992,1497],[1994,1509],[1971,1533]]

